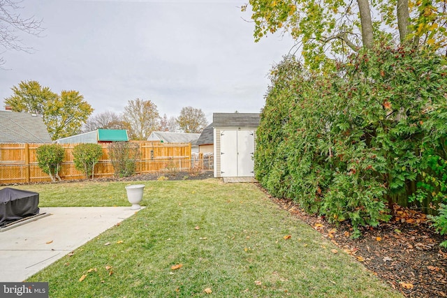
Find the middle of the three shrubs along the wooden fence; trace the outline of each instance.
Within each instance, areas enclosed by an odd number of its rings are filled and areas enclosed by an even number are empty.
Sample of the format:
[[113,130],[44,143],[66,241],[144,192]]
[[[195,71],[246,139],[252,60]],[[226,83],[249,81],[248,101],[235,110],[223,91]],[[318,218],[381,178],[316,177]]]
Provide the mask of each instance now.
[[78,144],[73,149],[75,168],[85,174],[85,179],[94,178],[94,168],[103,155],[100,144]]

